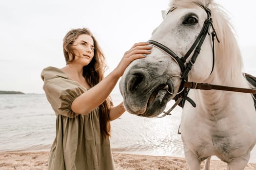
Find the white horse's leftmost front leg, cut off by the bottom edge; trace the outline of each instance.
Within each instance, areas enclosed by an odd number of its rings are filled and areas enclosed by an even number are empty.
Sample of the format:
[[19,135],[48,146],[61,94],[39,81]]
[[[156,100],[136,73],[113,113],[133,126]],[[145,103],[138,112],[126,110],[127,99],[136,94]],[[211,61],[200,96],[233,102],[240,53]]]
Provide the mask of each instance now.
[[184,148],[184,154],[189,170],[200,170],[200,164],[198,157],[189,149]]

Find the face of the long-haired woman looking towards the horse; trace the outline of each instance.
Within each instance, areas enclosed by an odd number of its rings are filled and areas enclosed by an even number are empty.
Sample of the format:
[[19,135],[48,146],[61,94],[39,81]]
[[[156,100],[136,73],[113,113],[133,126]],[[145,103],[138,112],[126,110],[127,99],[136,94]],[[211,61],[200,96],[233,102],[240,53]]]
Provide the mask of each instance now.
[[94,56],[94,42],[93,38],[88,34],[80,34],[71,46],[75,54],[75,60],[72,62],[79,62],[83,66],[87,66]]

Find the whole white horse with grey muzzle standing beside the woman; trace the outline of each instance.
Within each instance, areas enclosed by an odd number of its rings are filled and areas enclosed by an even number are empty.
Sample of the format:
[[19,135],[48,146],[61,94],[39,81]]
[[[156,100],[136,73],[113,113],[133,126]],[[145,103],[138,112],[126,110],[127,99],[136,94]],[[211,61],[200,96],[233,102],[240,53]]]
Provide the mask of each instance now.
[[173,0],[163,17],[149,41],[152,53],[132,62],[119,83],[126,110],[156,117],[167,102],[183,99],[180,130],[189,170],[199,170],[205,159],[209,170],[212,155],[228,170],[243,170],[256,144],[252,94],[190,88],[252,88],[226,14],[213,0]]

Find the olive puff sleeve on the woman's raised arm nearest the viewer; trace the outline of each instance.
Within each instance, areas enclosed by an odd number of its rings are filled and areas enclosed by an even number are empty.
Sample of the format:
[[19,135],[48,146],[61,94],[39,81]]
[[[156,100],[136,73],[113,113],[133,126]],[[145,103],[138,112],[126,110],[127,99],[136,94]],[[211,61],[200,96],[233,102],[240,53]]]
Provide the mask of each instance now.
[[72,102],[86,89],[76,81],[68,79],[61,70],[53,67],[43,69],[43,90],[56,115],[74,118],[79,113],[71,110]]

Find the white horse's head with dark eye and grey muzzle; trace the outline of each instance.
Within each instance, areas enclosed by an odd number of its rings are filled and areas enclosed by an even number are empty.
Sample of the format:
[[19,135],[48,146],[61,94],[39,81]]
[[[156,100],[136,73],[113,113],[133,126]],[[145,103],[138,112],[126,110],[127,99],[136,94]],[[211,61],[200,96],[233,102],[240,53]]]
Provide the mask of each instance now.
[[129,113],[155,117],[182,91],[182,80],[205,82],[213,72],[211,1],[181,1],[162,12],[163,21],[149,40],[152,53],[133,61],[121,78],[119,89]]

